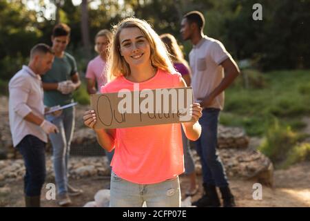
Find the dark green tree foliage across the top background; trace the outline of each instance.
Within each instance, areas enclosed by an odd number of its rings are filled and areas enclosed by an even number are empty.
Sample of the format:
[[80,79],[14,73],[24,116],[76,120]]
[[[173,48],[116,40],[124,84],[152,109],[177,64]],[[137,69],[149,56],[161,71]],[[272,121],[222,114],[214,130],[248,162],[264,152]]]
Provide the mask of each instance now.
[[[29,50],[39,42],[51,44],[50,35],[54,20],[46,19],[44,1],[39,3],[39,12],[30,11],[26,1],[0,0],[0,68],[1,79],[10,79]],[[180,21],[189,10],[200,10],[205,15],[205,34],[223,41],[225,48],[236,60],[251,59],[254,67],[262,70],[283,68],[310,68],[310,0],[102,0],[97,9],[88,8],[90,39],[103,28],[128,16],[135,16],[152,23],[158,34],[169,32],[184,45],[185,54],[192,48],[189,41],[180,37]],[[254,21],[252,6],[262,4],[262,21]],[[63,1],[59,10],[61,22],[71,28],[69,50],[82,48],[81,7],[72,1]],[[84,59],[88,53],[84,53]],[[19,58],[17,58],[19,59]],[[2,61],[3,60],[3,61]],[[10,64],[8,62],[10,61]],[[12,68],[9,68],[12,66]],[[84,66],[84,65],[81,65]],[[249,75],[250,76],[250,75]],[[245,79],[246,80],[246,79]],[[251,80],[251,78],[250,78]],[[260,81],[250,82],[254,88]],[[300,93],[308,91],[300,88]],[[276,113],[278,110],[275,111]]]

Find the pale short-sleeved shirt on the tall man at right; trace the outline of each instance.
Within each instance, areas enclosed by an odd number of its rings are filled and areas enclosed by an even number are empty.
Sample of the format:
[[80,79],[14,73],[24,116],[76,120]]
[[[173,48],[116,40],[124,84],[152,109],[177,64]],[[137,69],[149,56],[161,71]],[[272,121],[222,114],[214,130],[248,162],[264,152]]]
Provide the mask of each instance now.
[[[224,68],[220,64],[231,57],[223,44],[211,37],[204,36],[189,53],[192,69],[192,88],[197,102],[209,95],[224,78]],[[208,108],[224,107],[224,92],[215,97]]]

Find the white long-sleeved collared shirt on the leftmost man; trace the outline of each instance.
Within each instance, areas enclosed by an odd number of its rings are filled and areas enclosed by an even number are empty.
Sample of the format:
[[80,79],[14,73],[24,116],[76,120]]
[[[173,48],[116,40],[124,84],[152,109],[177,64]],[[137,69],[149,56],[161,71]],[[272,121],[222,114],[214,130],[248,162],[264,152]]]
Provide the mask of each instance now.
[[26,135],[34,135],[43,142],[48,142],[48,137],[40,126],[23,119],[30,112],[44,118],[40,75],[36,75],[28,66],[23,66],[10,79],[9,92],[9,120],[13,146],[17,146]]

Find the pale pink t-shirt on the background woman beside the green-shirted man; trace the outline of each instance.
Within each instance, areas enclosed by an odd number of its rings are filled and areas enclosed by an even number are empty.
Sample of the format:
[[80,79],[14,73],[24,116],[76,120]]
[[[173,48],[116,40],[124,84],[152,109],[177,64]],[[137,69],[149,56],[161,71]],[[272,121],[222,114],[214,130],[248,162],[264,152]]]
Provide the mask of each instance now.
[[105,61],[101,59],[98,55],[87,65],[86,78],[96,80],[98,91],[100,91],[101,86],[107,83],[107,77],[105,76]]

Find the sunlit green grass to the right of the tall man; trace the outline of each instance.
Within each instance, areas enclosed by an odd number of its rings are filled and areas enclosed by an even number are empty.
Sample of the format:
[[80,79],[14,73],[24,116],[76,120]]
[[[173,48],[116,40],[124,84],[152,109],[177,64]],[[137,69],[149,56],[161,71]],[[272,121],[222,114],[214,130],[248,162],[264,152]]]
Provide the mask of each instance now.
[[301,117],[310,114],[309,70],[259,73],[244,70],[225,90],[225,109],[220,123],[242,126],[249,135],[264,137],[259,147],[276,168],[310,159],[309,135]]

